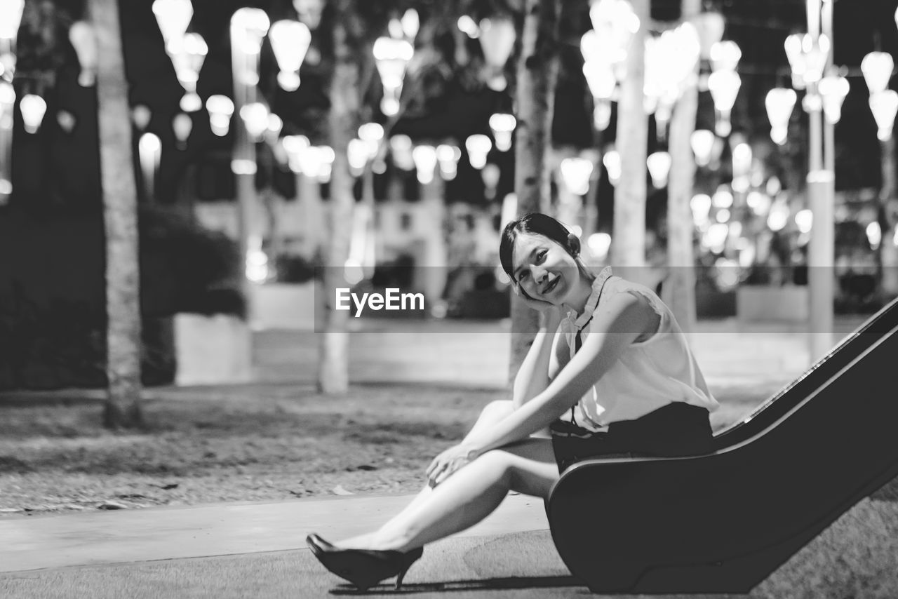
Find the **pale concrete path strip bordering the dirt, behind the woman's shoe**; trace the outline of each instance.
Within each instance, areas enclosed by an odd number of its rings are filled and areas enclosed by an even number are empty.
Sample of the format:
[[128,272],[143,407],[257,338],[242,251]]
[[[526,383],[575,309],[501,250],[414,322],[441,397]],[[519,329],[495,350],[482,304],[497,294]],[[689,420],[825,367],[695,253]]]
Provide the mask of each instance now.
[[[305,535],[367,533],[412,496],[157,507],[0,520],[0,572],[305,549]],[[542,500],[510,495],[460,537],[548,530]]]

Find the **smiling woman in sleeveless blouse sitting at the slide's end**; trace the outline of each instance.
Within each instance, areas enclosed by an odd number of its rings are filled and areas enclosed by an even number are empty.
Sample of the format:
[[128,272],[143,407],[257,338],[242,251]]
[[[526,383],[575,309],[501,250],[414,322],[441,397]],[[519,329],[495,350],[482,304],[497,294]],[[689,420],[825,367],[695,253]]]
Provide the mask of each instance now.
[[594,275],[558,221],[528,214],[506,226],[499,257],[541,329],[515,377],[459,445],[436,456],[428,484],[374,533],[306,541],[331,572],[366,589],[397,576],[422,547],[477,524],[508,491],[543,499],[570,463],[609,454],[709,451],[718,403],[670,309],[610,268]]

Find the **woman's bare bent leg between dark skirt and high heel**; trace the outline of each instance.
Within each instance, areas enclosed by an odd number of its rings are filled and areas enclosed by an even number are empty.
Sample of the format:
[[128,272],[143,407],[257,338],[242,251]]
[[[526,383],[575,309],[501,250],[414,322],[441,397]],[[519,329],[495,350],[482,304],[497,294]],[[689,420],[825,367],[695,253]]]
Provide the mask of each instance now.
[[509,490],[547,498],[558,467],[547,439],[531,438],[481,455],[365,538],[344,547],[408,551],[477,524]]

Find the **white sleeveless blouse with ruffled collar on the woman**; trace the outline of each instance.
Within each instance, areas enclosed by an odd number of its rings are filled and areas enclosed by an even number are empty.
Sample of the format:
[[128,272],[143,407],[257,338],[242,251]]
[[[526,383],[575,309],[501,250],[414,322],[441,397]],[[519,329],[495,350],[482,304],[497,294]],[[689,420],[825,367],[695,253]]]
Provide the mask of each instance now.
[[[581,339],[585,342],[599,305],[622,293],[645,298],[661,317],[661,322],[656,333],[632,343],[585,393],[575,410],[577,424],[600,431],[612,422],[645,416],[673,401],[716,410],[718,401],[711,395],[670,308],[648,287],[612,277],[611,267],[606,267],[595,277],[593,293],[584,312],[579,316],[568,313],[559,325],[559,333],[568,342],[570,356],[573,357],[576,350],[577,330],[582,330]],[[570,411],[563,418],[570,418],[569,414]]]

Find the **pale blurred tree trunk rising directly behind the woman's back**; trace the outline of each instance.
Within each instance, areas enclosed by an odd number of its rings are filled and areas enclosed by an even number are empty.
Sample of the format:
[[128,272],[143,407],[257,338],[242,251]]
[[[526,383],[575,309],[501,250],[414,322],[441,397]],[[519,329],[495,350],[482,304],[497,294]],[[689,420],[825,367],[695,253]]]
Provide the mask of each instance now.
[[[682,0],[682,21],[701,12],[700,0]],[[690,138],[695,131],[695,116],[699,109],[699,63],[694,69],[695,81],[686,86],[674,106],[671,118],[669,151],[672,158],[667,183],[667,265],[664,284],[666,303],[684,331],[695,329],[695,256],[692,253],[692,187],[695,181],[695,160],[692,158]]]

